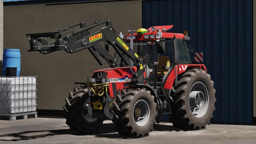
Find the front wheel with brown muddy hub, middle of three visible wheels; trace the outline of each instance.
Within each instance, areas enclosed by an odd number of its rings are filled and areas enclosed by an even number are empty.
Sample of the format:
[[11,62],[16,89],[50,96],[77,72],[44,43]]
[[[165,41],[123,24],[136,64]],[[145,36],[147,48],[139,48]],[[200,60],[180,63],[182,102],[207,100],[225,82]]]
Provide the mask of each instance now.
[[[113,102],[113,119],[115,129],[126,137],[144,137],[153,130],[156,122],[155,97],[145,88],[122,90]],[[139,108],[139,109],[138,109]],[[139,113],[136,113],[138,112]]]

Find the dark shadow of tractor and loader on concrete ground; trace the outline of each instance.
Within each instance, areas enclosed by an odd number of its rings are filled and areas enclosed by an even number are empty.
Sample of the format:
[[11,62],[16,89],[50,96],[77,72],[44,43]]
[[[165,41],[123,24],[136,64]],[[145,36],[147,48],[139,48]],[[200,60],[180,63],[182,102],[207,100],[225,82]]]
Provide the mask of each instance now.
[[[66,127],[66,126],[64,126]],[[67,126],[68,127],[68,126]],[[180,131],[173,126],[168,126],[164,124],[155,124],[154,131]],[[123,137],[119,135],[114,129],[113,123],[103,124],[102,129],[95,133],[79,133],[70,129],[59,129],[59,130],[36,130],[36,131],[25,131],[19,133],[11,133],[0,135],[0,141],[20,141],[20,140],[30,140],[37,138],[50,137],[53,135],[94,135],[95,137],[110,138],[110,139],[132,139],[128,137]]]

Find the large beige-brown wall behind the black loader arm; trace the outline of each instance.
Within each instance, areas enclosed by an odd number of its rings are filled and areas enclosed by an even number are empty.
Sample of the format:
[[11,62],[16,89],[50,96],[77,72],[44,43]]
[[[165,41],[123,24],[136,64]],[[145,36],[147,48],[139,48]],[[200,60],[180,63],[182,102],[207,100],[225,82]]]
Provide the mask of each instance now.
[[[133,11],[130,11],[131,6]],[[63,110],[68,92],[75,86],[79,87],[74,82],[86,82],[87,75],[102,67],[88,50],[74,54],[57,51],[47,55],[27,52],[30,45],[25,34],[52,32],[79,21],[90,24],[107,18],[118,33],[125,35],[128,28],[138,30],[142,27],[142,1],[4,7],[4,48],[20,49],[20,76],[38,76],[37,109]],[[105,60],[103,63],[107,67]]]

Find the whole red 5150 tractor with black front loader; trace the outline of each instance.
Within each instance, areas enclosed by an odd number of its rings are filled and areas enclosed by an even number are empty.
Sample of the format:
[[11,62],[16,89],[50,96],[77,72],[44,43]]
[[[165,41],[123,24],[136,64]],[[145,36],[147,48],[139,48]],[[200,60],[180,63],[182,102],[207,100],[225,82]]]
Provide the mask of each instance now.
[[[106,24],[89,33],[95,26]],[[75,31],[62,35],[71,27]],[[126,38],[117,34],[109,19],[75,25],[55,32],[26,34],[30,50],[48,54],[57,50],[68,53],[88,49],[103,66],[100,55],[110,68],[97,70],[87,82],[65,99],[66,124],[78,132],[98,130],[103,121],[112,119],[119,134],[144,137],[164,114],[174,127],[201,129],[210,124],[215,110],[215,89],[203,64],[191,64],[187,34],[167,33],[173,26],[148,30],[128,29]],[[54,38],[48,43],[44,37]],[[105,42],[105,48],[99,42]],[[41,44],[38,44],[41,43]],[[107,43],[106,43],[107,42]],[[116,51],[112,56],[110,46]],[[84,77],[81,75],[81,77]]]

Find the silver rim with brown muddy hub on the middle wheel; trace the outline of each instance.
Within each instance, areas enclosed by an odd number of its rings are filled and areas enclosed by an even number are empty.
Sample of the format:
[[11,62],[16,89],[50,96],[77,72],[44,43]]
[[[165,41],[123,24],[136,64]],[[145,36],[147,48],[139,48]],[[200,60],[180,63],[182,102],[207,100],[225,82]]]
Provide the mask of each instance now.
[[[135,108],[139,108],[141,111],[141,114],[139,117],[135,117],[134,116],[134,110]],[[149,108],[149,104],[148,102],[146,102],[145,100],[138,100],[134,107],[133,107],[133,119],[134,122],[142,127],[144,126],[146,123],[148,123],[149,121],[149,116],[150,116],[150,108]]]

